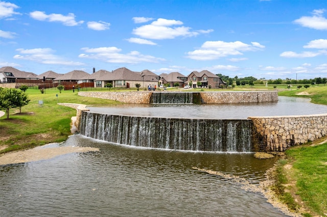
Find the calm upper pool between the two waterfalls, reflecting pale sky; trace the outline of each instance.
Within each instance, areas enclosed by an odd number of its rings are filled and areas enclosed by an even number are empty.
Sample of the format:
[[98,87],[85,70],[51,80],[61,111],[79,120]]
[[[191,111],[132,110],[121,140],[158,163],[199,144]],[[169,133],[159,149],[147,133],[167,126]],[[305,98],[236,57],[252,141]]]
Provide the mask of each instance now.
[[224,104],[116,104],[89,106],[91,112],[114,115],[247,119],[250,116],[289,116],[327,113],[326,105],[310,103],[310,99],[278,97],[277,102]]

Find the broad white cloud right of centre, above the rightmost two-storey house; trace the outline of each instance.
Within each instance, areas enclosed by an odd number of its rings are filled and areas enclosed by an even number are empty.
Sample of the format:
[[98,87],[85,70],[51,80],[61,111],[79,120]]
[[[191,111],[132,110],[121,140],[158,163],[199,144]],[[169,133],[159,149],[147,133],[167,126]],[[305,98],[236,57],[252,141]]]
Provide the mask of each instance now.
[[258,42],[251,43],[252,45],[241,41],[206,41],[200,49],[189,51],[187,57],[193,60],[215,60],[226,56],[243,55],[244,51],[256,51],[265,47]]

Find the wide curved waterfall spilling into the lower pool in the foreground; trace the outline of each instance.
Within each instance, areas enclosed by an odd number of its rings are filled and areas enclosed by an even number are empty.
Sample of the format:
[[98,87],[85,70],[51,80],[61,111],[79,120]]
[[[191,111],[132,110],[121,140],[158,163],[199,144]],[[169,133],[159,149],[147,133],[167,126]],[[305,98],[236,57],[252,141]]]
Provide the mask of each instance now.
[[251,120],[178,119],[82,112],[80,133],[113,143],[174,150],[251,151]]

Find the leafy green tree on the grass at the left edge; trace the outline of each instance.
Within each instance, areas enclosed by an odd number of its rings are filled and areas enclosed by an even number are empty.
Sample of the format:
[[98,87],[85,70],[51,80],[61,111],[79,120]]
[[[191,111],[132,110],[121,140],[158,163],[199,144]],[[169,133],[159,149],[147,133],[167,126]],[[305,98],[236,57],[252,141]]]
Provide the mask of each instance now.
[[24,92],[13,88],[0,89],[0,110],[5,110],[9,119],[10,108],[21,108],[27,105],[30,100]]

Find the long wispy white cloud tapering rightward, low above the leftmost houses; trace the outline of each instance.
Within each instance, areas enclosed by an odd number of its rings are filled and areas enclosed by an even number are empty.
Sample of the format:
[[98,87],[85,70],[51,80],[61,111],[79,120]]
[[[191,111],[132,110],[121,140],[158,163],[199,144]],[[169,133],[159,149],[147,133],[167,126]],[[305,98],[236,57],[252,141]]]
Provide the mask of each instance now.
[[80,62],[67,61],[63,58],[54,55],[55,50],[51,48],[34,48],[34,49],[16,49],[21,55],[15,55],[14,59],[29,60],[43,64],[56,64],[56,65],[71,65],[80,66],[84,65]]

